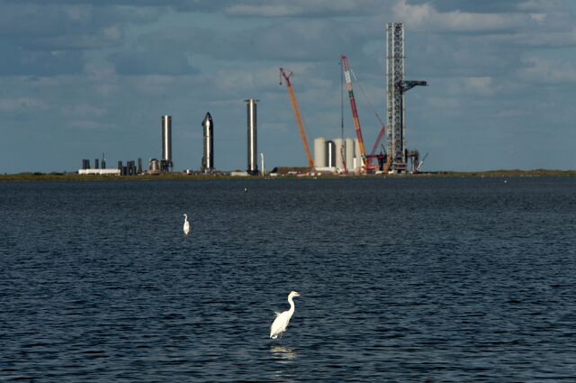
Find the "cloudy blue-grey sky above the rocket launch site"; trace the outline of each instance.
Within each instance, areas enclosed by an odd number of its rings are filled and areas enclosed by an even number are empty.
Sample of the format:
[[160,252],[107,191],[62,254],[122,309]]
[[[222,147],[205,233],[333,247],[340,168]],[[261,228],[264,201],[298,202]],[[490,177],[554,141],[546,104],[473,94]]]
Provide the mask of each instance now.
[[[160,5],[161,4],[161,5]],[[405,23],[407,146],[423,170],[576,169],[576,2],[571,0],[0,0],[0,172],[76,171],[82,159],[247,167],[257,98],[266,169],[305,166],[278,68],[308,141],[354,137],[339,57],[356,74],[370,149],[385,117],[385,23]],[[112,165],[112,166],[111,166]]]

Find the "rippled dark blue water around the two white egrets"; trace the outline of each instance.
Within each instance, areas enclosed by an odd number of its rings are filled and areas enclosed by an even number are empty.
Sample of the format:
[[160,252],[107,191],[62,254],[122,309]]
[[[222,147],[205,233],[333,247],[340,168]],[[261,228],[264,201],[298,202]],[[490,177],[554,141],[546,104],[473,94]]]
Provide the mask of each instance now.
[[0,193],[0,380],[576,381],[574,178]]

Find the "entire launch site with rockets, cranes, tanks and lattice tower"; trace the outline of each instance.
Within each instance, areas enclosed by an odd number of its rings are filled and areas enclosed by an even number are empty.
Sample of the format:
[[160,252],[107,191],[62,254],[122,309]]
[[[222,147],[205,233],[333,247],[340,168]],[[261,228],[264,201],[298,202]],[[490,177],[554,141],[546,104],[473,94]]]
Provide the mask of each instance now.
[[[385,105],[374,107],[374,103],[366,96],[360,82],[346,55],[340,55],[340,129],[339,137],[325,138],[316,137],[313,140],[313,157],[306,127],[302,122],[302,114],[298,106],[296,91],[293,87],[293,72],[279,68],[280,86],[286,87],[290,104],[292,105],[296,127],[302,140],[303,151],[307,160],[307,167],[291,168],[277,167],[269,174],[318,176],[330,175],[367,175],[367,174],[415,174],[422,169],[422,164],[428,153],[420,158],[419,150],[410,148],[406,134],[406,93],[413,87],[427,86],[427,81],[409,80],[405,78],[405,49],[404,49],[404,24],[386,23],[386,59],[385,59]],[[372,145],[365,142],[354,87],[359,87],[365,96],[367,105],[372,107],[378,122],[378,134]],[[355,137],[345,137],[344,109],[345,99],[349,100],[349,107],[354,126]],[[200,170],[185,169],[187,175],[220,176],[230,175],[238,177],[263,176],[268,174],[265,168],[264,153],[257,150],[257,103],[258,99],[248,98],[244,100],[247,106],[247,167],[246,170],[231,172],[220,171],[215,168],[214,158],[214,119],[212,114],[206,113],[202,119],[202,160]],[[385,120],[377,110],[384,109]],[[172,123],[171,115],[161,116],[161,143],[162,156],[160,160],[150,158],[148,169],[142,166],[142,160],[138,160],[138,167],[134,160],[129,160],[126,166],[118,161],[117,169],[105,169],[104,155],[102,161],[94,160],[94,169],[89,160],[82,160],[82,169],[79,174],[91,175],[125,175],[135,176],[142,174],[160,175],[172,173],[174,166],[172,150]],[[375,132],[375,130],[374,130]],[[371,134],[373,132],[370,132]],[[370,148],[370,151],[366,150]],[[259,154],[259,155],[258,155]],[[258,163],[259,162],[259,163]],[[102,164],[102,167],[100,167]],[[258,165],[260,166],[258,168]]]

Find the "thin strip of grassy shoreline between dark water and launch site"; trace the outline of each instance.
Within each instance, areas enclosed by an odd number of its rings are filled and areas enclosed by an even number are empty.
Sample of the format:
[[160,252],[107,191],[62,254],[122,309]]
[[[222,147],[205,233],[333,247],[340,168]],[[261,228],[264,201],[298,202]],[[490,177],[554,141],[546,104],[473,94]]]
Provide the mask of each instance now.
[[[400,175],[322,175],[313,177],[314,179],[358,179],[358,178],[503,178],[503,177],[576,177],[576,170],[488,170],[488,171],[436,171],[419,174]],[[76,173],[18,173],[0,175],[2,181],[178,181],[178,180],[207,180],[207,179],[294,179],[293,176],[285,177],[231,177],[231,176],[205,176],[187,175],[184,173],[171,173],[159,176],[139,175],[139,176],[95,176],[78,175]],[[311,179],[312,177],[302,177],[301,179]]]

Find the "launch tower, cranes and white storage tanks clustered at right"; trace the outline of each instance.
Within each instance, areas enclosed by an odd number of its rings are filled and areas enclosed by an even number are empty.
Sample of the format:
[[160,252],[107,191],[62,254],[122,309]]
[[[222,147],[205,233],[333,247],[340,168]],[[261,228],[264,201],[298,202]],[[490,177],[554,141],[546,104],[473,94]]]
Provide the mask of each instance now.
[[[406,140],[406,102],[405,94],[413,87],[428,86],[427,81],[408,80],[405,74],[404,50],[404,24],[386,24],[386,123],[373,107],[374,114],[381,125],[380,132],[370,152],[365,149],[365,140],[360,125],[360,118],[356,107],[353,81],[356,75],[350,68],[346,55],[341,55],[340,63],[343,71],[342,95],[347,93],[350,101],[350,110],[354,122],[356,137],[344,137],[344,118],[341,118],[341,136],[327,140],[324,137],[314,139],[314,157],[312,158],[310,146],[302,123],[302,115],[291,77],[292,72],[286,73],[280,68],[280,84],[283,82],[293,107],[294,117],[302,139],[302,145],[308,171],[303,174],[318,175],[323,173],[338,174],[401,174],[419,173],[428,153],[420,158],[419,150],[408,149]],[[344,97],[344,96],[342,96]],[[367,100],[369,104],[372,103]],[[344,105],[344,102],[342,102]]]

